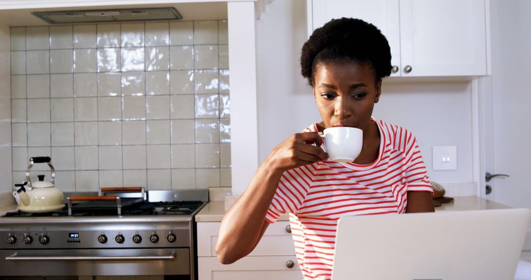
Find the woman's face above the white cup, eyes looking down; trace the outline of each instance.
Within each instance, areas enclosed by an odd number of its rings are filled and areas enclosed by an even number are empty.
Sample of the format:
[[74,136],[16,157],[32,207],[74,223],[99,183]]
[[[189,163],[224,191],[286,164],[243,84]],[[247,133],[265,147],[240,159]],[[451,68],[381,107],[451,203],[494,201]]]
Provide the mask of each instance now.
[[371,121],[381,84],[371,65],[353,61],[320,63],[315,69],[313,95],[324,128],[349,126],[365,130]]

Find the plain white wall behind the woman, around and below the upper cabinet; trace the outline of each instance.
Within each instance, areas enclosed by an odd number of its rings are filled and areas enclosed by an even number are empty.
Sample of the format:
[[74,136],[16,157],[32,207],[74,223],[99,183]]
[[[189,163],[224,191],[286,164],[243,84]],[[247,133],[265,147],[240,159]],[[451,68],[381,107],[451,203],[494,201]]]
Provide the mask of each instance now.
[[[300,74],[306,1],[274,1],[257,23],[259,160],[288,135],[321,121]],[[373,116],[411,130],[432,180],[471,182],[472,113],[469,82],[384,82]],[[432,146],[457,145],[456,171],[432,170]]]

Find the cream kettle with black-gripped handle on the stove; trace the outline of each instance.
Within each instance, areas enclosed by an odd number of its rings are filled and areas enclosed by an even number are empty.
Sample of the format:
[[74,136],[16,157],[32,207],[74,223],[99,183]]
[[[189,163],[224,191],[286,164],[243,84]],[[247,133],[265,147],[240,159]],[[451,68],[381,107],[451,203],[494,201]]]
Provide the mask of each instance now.
[[[21,212],[50,212],[58,211],[65,207],[64,195],[61,190],[55,187],[55,169],[49,156],[36,156],[30,158],[30,165],[26,170],[26,181],[16,184],[20,187],[13,192],[16,203],[19,204]],[[48,163],[52,170],[52,180],[45,181],[44,175],[38,175],[39,181],[31,182],[30,170],[34,163]]]

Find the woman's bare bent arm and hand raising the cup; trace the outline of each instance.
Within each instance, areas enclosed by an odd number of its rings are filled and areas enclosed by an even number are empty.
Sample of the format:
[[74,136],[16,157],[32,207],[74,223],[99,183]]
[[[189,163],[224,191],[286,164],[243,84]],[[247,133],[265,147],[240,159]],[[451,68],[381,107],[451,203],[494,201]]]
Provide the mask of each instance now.
[[222,264],[232,264],[249,254],[260,241],[265,221],[282,173],[323,161],[327,154],[306,142],[322,143],[318,133],[297,133],[280,143],[262,162],[251,182],[227,211],[219,229],[216,255]]

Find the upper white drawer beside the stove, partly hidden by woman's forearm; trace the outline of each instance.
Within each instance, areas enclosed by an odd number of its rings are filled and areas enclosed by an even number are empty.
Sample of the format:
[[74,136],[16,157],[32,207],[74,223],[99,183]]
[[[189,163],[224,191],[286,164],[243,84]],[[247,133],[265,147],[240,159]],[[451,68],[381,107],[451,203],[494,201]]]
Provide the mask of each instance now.
[[[198,256],[215,257],[218,242],[219,222],[199,222]],[[270,224],[249,256],[294,256],[295,247],[292,234],[287,232],[288,221]]]

